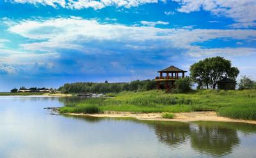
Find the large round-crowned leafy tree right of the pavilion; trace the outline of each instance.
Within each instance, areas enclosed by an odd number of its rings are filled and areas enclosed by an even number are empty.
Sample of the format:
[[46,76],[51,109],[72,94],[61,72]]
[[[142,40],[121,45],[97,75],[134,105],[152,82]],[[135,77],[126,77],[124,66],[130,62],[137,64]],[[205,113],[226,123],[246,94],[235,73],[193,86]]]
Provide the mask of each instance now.
[[216,88],[218,80],[224,77],[236,80],[239,70],[232,67],[231,61],[223,57],[211,57],[196,62],[190,67],[191,78],[198,83],[198,88]]

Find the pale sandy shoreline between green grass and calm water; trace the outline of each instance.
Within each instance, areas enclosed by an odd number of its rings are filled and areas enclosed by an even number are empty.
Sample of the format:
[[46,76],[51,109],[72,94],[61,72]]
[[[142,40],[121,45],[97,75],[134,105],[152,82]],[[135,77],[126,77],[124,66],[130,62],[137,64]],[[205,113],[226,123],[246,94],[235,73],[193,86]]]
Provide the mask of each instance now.
[[91,116],[91,117],[129,117],[138,120],[163,120],[163,121],[178,121],[178,122],[193,122],[193,121],[220,121],[220,122],[243,122],[249,124],[256,124],[255,120],[238,120],[227,117],[220,117],[214,111],[199,111],[189,113],[175,113],[174,119],[163,119],[162,113],[130,113],[130,112],[116,112],[107,111],[100,114],[84,114],[84,113],[65,113],[66,115],[77,116]]

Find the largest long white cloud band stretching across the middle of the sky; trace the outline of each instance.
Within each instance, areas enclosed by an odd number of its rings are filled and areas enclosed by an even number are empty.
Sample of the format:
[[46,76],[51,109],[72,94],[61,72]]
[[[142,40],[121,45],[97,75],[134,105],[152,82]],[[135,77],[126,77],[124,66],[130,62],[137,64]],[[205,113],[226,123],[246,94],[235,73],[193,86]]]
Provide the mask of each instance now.
[[[241,29],[161,29],[157,27],[100,24],[83,18],[50,18],[23,20],[8,29],[29,39],[42,42],[23,43],[26,50],[58,52],[61,48],[79,50],[86,54],[113,54],[123,50],[184,50],[197,57],[212,54],[252,54],[251,48],[201,48],[195,43],[212,39],[255,39],[255,30]],[[241,53],[237,53],[241,52]]]

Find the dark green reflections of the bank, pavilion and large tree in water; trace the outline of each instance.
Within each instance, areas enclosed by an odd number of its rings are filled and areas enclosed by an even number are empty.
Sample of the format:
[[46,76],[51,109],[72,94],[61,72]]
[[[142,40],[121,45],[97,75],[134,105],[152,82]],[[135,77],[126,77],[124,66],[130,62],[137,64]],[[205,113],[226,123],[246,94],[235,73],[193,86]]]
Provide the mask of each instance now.
[[[66,116],[68,117],[68,116]],[[135,124],[144,124],[152,129],[161,143],[170,148],[182,148],[182,145],[190,142],[193,150],[200,154],[209,154],[210,156],[223,156],[230,154],[232,148],[237,147],[240,140],[237,131],[244,134],[256,133],[256,126],[239,125],[230,122],[163,122],[146,121],[128,118],[97,118],[97,117],[74,117],[74,119],[84,120],[90,123],[97,123],[102,120],[129,121]],[[184,149],[186,152],[186,149]]]

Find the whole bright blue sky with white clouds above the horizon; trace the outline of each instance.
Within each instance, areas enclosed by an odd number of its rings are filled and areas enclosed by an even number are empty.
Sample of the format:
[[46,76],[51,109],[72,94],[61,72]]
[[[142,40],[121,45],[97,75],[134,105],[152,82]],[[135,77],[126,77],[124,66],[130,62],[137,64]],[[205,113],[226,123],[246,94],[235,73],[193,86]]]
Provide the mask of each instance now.
[[255,0],[2,0],[0,91],[129,82],[220,55],[256,80]]

